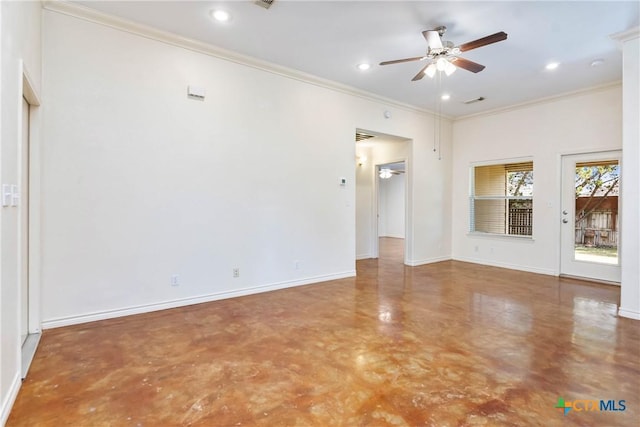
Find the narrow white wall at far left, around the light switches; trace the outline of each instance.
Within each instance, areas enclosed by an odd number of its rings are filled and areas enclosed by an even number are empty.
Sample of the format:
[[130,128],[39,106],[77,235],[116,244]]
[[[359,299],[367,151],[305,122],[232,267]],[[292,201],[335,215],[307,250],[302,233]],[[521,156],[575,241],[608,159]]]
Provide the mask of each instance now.
[[[0,2],[0,177],[20,184],[22,79],[41,89],[40,2]],[[0,424],[4,424],[20,387],[20,288],[18,207],[0,209]]]

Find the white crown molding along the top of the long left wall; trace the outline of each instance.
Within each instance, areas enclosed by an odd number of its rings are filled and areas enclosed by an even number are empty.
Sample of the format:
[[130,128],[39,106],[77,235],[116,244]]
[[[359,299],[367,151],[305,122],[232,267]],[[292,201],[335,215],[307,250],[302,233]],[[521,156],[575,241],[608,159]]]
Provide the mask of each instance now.
[[[330,89],[336,92],[352,95],[358,98],[374,101],[385,104],[389,107],[395,107],[406,111],[411,111],[421,114],[435,115],[433,111],[418,108],[414,105],[406,104],[396,101],[391,98],[386,98],[380,95],[376,95],[371,92],[357,89],[353,86],[344,85],[332,80],[324,79],[313,74],[305,73],[293,68],[284,67],[268,61],[263,61],[248,55],[243,55],[238,52],[234,52],[228,49],[224,49],[209,43],[205,43],[199,40],[183,37],[175,33],[160,30],[158,28],[140,24],[135,21],[113,16],[95,9],[91,9],[79,4],[70,3],[66,0],[47,0],[42,2],[42,7],[45,10],[68,15],[74,18],[82,19],[84,21],[92,22],[94,24],[103,25],[116,30],[124,31],[130,34],[134,34],[140,37],[144,37],[150,40],[154,40],[160,43],[165,43],[175,47],[187,49],[193,52],[201,53],[204,55],[212,56],[225,61],[234,62],[236,64],[244,65],[247,67],[255,68],[261,71],[265,71],[271,74],[276,74],[281,77],[297,80],[300,82],[308,83],[314,86],[319,86],[325,89]],[[451,119],[445,115],[442,116],[445,119]]]

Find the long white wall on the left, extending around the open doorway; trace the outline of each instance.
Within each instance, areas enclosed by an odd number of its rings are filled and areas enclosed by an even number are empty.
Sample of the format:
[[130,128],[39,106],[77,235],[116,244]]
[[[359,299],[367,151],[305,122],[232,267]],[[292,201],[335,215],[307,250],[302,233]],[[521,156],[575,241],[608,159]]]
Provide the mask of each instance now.
[[358,127],[446,185],[424,113],[133,32],[45,11],[46,327],[353,275]]

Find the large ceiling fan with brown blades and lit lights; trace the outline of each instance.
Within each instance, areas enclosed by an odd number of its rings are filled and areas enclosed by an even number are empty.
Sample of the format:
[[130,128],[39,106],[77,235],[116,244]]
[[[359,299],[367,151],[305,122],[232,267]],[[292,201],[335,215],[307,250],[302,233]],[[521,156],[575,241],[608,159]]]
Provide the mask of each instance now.
[[401,62],[411,61],[425,61],[429,63],[425,65],[418,74],[416,74],[411,81],[420,80],[424,75],[433,77],[436,71],[444,71],[447,75],[453,73],[456,67],[463,68],[472,73],[478,73],[484,70],[484,65],[477,62],[469,61],[459,57],[461,52],[466,52],[471,49],[477,49],[488,44],[497,43],[507,39],[507,33],[500,31],[490,36],[482,37],[477,40],[473,40],[467,43],[463,43],[459,46],[454,46],[450,41],[442,40],[442,36],[447,31],[447,27],[441,26],[434,30],[426,30],[422,32],[422,35],[427,40],[427,54],[425,56],[416,56],[413,58],[395,59],[393,61],[384,61],[380,65],[399,64]]

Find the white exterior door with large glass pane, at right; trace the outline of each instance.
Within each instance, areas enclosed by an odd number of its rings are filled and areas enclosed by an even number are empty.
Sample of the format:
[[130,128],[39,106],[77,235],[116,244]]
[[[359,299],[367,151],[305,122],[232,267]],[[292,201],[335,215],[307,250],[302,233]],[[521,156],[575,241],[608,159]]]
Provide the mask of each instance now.
[[562,157],[560,273],[620,283],[620,151]]

